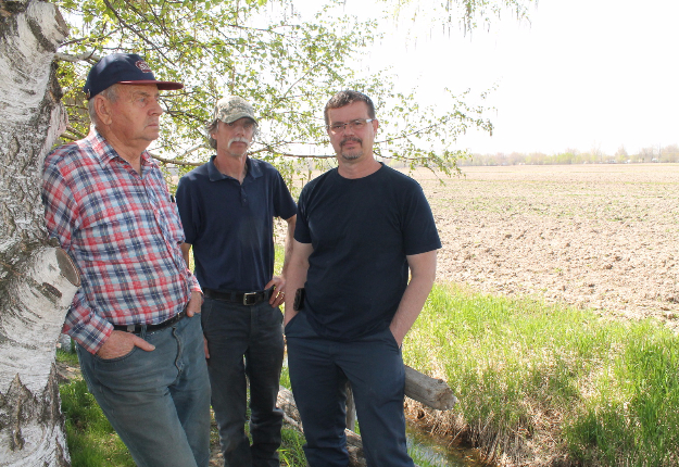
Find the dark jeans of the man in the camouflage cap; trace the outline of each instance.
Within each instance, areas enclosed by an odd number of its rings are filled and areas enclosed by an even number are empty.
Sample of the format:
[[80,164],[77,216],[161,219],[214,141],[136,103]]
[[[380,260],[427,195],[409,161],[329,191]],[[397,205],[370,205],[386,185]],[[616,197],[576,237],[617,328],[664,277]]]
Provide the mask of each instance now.
[[[226,466],[278,467],[282,411],[276,407],[282,366],[282,314],[268,302],[247,306],[205,298],[203,333],[212,408]],[[250,381],[250,434],[246,436]]]

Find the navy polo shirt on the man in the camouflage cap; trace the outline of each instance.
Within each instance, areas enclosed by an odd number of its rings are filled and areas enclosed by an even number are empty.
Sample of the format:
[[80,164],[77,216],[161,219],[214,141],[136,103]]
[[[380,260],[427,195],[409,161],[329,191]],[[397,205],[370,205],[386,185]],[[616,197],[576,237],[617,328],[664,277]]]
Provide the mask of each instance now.
[[196,277],[208,289],[263,290],[274,275],[274,217],[292,217],[297,205],[273,165],[248,157],[240,185],[217,171],[214,157],[181,177],[177,187]]

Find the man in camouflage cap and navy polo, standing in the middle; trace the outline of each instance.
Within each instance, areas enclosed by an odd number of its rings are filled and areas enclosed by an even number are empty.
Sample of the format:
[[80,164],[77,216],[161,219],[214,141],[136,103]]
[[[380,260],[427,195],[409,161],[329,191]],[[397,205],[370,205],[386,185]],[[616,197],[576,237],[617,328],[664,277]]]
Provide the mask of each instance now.
[[[177,205],[184,225],[184,255],[193,249],[196,276],[205,302],[202,324],[226,466],[278,467],[282,412],[276,407],[282,365],[282,315],[287,260],[297,205],[271,164],[248,156],[257,132],[244,99],[217,101],[208,126],[210,162],[179,180]],[[288,223],[285,261],[274,276],[273,220]],[[244,432],[247,379],[250,433]]]

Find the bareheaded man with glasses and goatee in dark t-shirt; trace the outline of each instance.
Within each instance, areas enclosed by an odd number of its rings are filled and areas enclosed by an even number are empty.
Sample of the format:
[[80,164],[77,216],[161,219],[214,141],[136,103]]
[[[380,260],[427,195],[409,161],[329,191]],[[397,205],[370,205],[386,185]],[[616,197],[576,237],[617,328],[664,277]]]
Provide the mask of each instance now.
[[[349,381],[368,466],[413,466],[401,344],[433,285],[441,242],[419,185],[374,157],[379,123],[370,99],[341,91],[325,122],[338,167],[302,190],[287,279],[288,364],[304,452],[311,467],[348,465]],[[305,296],[293,306],[301,288]]]

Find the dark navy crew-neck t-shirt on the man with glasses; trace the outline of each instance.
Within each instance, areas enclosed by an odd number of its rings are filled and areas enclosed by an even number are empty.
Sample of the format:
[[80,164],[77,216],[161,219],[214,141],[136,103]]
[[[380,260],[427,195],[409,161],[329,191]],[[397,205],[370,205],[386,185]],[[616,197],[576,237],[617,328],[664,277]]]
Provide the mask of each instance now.
[[357,179],[334,168],[309,182],[294,239],[314,249],[309,321],[318,335],[341,341],[386,329],[407,286],[406,255],[441,248],[422,187],[387,166]]

